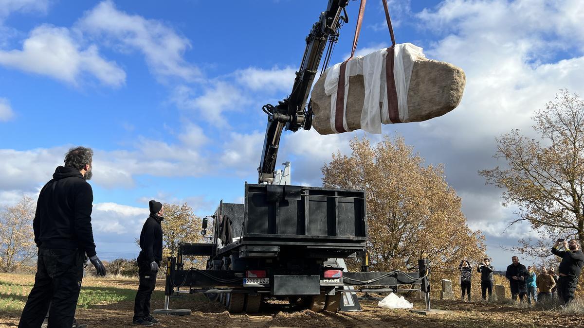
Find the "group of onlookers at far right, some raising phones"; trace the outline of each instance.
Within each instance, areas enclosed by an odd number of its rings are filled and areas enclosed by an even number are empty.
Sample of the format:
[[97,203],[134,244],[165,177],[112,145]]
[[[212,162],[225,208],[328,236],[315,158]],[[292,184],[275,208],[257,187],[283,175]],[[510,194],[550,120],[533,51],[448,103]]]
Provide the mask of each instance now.
[[[561,246],[561,247],[560,247]],[[566,241],[558,239],[551,248],[551,253],[561,257],[557,273],[555,267],[541,267],[539,275],[535,273],[534,267],[527,268],[519,263],[519,258],[513,256],[512,263],[507,266],[505,277],[509,280],[509,289],[513,301],[519,296],[523,302],[527,295],[527,302],[545,301],[554,298],[559,299],[564,305],[568,305],[574,298],[574,292],[578,287],[578,280],[584,266],[584,253],[582,253],[580,242],[576,239]],[[482,299],[486,299],[488,291],[489,299],[492,296],[493,271],[489,259],[484,259],[477,267],[481,274]],[[461,299],[464,301],[465,295],[468,301],[471,300],[471,275],[472,266],[467,260],[460,262],[460,288],[462,290]]]

